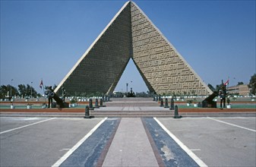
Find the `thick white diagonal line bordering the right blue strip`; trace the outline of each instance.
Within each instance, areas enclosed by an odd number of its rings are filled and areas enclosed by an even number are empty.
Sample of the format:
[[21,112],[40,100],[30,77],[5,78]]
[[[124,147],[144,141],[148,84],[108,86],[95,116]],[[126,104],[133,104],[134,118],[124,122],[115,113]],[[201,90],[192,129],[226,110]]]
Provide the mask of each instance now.
[[175,135],[172,134],[172,132],[170,132],[157,118],[154,119],[160,125],[160,127],[163,128],[163,130],[166,131],[166,133],[169,134],[169,136],[172,137],[172,139],[175,140],[176,143],[178,143],[179,147],[182,147],[182,150],[184,150],[188,154],[188,156],[190,156],[191,159],[194,160],[194,162],[196,162],[199,166],[207,166],[201,159],[198,158],[198,156],[196,156],[191,150],[189,150],[188,147],[186,147],[181,140],[175,137]]

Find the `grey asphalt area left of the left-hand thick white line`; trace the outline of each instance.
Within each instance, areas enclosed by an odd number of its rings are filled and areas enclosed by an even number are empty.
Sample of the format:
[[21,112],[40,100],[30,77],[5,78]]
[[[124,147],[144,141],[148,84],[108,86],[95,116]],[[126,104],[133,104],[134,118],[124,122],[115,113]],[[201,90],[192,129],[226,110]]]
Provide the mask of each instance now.
[[0,134],[0,166],[51,166],[101,120],[1,117],[0,133],[43,122]]

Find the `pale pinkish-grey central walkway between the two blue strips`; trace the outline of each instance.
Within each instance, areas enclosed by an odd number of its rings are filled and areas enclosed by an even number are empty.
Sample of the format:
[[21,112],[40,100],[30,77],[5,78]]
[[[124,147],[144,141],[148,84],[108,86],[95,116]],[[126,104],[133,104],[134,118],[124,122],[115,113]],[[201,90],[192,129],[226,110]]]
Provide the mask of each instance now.
[[141,118],[122,118],[103,166],[158,166]]

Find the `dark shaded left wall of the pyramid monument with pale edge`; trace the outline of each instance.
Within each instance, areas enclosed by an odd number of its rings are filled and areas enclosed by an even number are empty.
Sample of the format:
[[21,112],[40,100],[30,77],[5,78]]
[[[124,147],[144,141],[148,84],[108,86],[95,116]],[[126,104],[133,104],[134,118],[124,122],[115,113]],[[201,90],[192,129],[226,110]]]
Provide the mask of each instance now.
[[112,92],[132,54],[131,8],[126,3],[58,84],[69,94]]

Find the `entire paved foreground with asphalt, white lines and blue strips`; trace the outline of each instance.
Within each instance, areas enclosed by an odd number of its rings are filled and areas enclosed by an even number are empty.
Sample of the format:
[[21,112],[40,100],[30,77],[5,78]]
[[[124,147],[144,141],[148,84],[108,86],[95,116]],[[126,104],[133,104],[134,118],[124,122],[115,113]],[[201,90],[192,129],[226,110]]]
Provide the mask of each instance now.
[[1,117],[1,166],[254,166],[255,117]]

